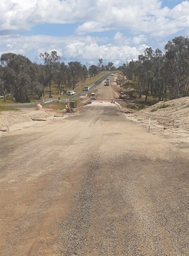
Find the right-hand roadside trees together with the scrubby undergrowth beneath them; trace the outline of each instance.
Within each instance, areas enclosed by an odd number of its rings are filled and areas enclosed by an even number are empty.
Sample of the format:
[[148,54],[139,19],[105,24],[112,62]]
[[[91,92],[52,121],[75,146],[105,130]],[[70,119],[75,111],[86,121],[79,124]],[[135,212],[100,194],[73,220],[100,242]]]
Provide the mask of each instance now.
[[[146,48],[137,61],[118,68],[119,98],[141,110],[159,101],[189,96],[189,38],[175,37],[161,50]],[[158,108],[167,108],[164,104]],[[156,111],[154,109],[153,111]]]

